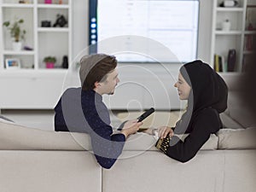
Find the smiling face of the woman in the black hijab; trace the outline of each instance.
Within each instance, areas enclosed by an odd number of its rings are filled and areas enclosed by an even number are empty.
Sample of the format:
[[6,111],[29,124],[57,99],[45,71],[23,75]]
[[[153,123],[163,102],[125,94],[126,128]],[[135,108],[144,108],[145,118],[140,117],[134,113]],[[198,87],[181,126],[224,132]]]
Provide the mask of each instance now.
[[174,86],[177,87],[177,93],[180,100],[189,99],[189,93],[190,93],[191,87],[185,81],[185,79],[183,79],[183,76],[181,73],[178,73],[177,83],[174,84]]

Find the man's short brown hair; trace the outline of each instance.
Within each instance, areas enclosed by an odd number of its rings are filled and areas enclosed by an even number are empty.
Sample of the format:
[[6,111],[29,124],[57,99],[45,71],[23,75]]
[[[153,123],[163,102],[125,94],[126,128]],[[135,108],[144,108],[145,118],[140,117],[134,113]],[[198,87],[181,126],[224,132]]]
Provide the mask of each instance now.
[[107,74],[117,66],[113,55],[86,55],[80,61],[80,81],[83,90],[93,90],[96,82],[105,81]]

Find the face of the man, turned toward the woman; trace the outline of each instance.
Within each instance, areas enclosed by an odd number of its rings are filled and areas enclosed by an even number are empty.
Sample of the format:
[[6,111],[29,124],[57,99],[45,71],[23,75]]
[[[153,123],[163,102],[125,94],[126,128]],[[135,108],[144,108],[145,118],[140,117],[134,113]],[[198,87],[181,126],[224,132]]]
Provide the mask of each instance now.
[[107,74],[108,78],[105,81],[100,82],[100,91],[102,94],[113,95],[115,86],[120,81],[118,75],[119,73],[116,69],[114,69],[112,72]]

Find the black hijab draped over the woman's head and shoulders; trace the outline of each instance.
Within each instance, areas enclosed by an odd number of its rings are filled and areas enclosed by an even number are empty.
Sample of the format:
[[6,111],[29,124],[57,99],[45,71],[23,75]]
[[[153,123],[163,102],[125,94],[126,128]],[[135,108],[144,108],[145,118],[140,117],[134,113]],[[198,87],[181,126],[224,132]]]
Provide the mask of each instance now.
[[[189,132],[191,121],[203,108],[214,108],[218,113],[227,108],[228,87],[212,67],[202,61],[192,61],[180,68],[180,73],[192,88],[188,108],[176,124],[178,132]],[[176,130],[175,128],[175,130]]]

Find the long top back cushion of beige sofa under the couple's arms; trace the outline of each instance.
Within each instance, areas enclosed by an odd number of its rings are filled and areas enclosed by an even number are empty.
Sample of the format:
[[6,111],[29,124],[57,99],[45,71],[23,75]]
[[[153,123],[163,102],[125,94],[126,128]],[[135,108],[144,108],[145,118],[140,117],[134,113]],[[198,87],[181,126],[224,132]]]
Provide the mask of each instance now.
[[[154,147],[156,141],[155,136],[137,133],[128,137],[124,151],[158,150]],[[217,147],[218,137],[212,134],[201,149]],[[91,145],[90,136],[85,133],[44,131],[0,120],[0,150],[91,150]]]

